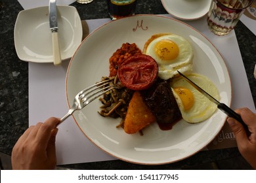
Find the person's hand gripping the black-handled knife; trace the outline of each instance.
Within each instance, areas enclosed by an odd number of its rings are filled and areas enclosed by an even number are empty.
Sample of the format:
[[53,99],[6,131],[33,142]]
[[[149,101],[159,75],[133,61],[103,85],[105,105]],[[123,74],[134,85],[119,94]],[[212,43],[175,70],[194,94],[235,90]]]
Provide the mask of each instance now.
[[247,137],[242,124],[234,118],[228,118],[228,124],[236,137],[238,150],[251,167],[256,169],[256,114],[248,108],[239,108],[236,112],[240,114],[242,120],[248,126],[251,135]]

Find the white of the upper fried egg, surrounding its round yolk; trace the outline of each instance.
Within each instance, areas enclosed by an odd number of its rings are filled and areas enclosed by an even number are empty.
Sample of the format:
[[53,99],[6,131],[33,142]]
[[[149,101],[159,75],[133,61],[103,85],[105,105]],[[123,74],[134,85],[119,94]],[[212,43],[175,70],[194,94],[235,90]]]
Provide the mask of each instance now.
[[[169,39],[170,41],[175,42],[179,47],[179,55],[175,59],[164,60],[161,59],[155,52],[156,44],[161,41]],[[158,76],[164,80],[169,78],[173,78],[173,76],[178,75],[177,70],[182,73],[191,73],[192,72],[192,60],[194,58],[194,52],[190,42],[179,35],[163,35],[154,39],[150,44],[148,44],[148,48],[146,48],[146,54],[151,56],[158,63],[159,71]]]

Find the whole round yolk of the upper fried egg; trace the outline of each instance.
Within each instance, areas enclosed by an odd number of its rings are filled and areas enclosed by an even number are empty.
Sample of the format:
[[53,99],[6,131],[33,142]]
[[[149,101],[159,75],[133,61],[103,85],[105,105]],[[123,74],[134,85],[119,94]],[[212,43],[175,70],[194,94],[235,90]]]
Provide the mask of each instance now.
[[169,61],[177,58],[179,55],[179,47],[175,42],[164,39],[156,43],[155,52],[161,60]]

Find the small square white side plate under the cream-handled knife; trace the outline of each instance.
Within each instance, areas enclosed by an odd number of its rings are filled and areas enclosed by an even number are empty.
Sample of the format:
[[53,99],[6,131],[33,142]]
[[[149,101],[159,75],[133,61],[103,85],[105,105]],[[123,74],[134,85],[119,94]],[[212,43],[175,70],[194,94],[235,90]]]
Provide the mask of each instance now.
[[[14,26],[14,44],[18,58],[23,61],[53,62],[48,8],[32,8],[18,13]],[[75,7],[57,6],[57,16],[60,55],[64,60],[73,56],[82,41],[83,31]]]

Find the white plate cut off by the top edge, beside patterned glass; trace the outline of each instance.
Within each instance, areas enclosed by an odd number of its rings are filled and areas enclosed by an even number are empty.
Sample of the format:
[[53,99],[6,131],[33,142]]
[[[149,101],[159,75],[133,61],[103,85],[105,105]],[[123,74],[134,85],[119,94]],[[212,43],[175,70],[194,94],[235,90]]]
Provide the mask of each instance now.
[[181,20],[196,20],[210,8],[211,0],[161,0],[165,10]]

